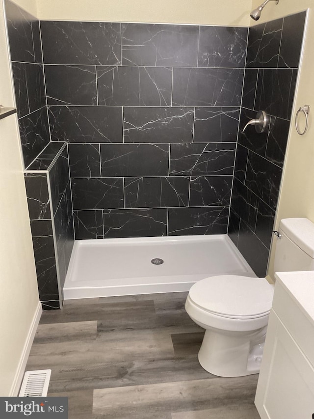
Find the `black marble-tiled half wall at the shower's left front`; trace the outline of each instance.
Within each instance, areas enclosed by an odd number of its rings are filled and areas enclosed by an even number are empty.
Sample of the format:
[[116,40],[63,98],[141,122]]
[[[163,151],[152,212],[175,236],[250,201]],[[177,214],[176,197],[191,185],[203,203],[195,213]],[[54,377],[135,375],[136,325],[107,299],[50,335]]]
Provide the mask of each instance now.
[[51,142],[29,168],[25,184],[39,297],[44,309],[59,308],[74,245],[67,144]]

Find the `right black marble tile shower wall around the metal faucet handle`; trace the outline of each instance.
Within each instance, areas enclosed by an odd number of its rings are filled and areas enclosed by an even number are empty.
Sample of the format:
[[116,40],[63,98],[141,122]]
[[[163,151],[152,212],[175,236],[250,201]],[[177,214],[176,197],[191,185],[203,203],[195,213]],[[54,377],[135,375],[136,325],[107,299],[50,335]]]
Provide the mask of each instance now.
[[[267,270],[306,12],[249,29],[228,234],[258,276]],[[263,110],[267,130],[244,125]]]

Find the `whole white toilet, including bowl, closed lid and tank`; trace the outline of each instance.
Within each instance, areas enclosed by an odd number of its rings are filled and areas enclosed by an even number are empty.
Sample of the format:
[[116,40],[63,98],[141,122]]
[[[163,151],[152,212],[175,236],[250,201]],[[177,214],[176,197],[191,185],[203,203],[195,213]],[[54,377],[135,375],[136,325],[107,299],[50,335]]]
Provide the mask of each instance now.
[[[275,252],[275,272],[314,270],[314,224],[306,218],[282,220]],[[220,275],[190,289],[185,309],[206,329],[198,359],[221,377],[260,370],[273,286],[265,278]]]

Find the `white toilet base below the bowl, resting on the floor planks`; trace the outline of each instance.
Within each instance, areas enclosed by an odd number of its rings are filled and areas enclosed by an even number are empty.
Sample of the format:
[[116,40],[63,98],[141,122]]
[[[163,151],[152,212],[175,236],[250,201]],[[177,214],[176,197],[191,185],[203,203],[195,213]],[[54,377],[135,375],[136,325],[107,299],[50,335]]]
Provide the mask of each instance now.
[[198,353],[199,363],[220,377],[258,374],[266,327],[254,332],[216,332],[207,329]]

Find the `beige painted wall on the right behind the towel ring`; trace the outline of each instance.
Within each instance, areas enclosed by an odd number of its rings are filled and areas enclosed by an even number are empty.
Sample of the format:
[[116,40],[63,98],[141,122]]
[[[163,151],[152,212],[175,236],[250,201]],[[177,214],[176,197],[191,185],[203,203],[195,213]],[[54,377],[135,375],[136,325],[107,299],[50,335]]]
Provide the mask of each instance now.
[[[260,4],[258,0],[253,1],[253,8]],[[277,219],[279,221],[289,217],[306,217],[314,222],[314,13],[313,1],[311,0],[285,0],[279,1],[278,5],[268,4],[263,10],[261,20],[269,20],[289,13],[305,10],[312,7],[308,14],[308,23],[304,43],[303,57],[299,70],[299,84],[295,94],[294,107],[291,119],[294,120],[297,110],[303,105],[312,105],[309,115],[309,129],[300,137],[291,124],[288,139],[288,149],[284,174],[281,185],[281,192],[277,207]],[[300,116],[300,125],[302,124]],[[271,257],[268,268],[269,275],[273,278],[274,241],[273,239]]]

